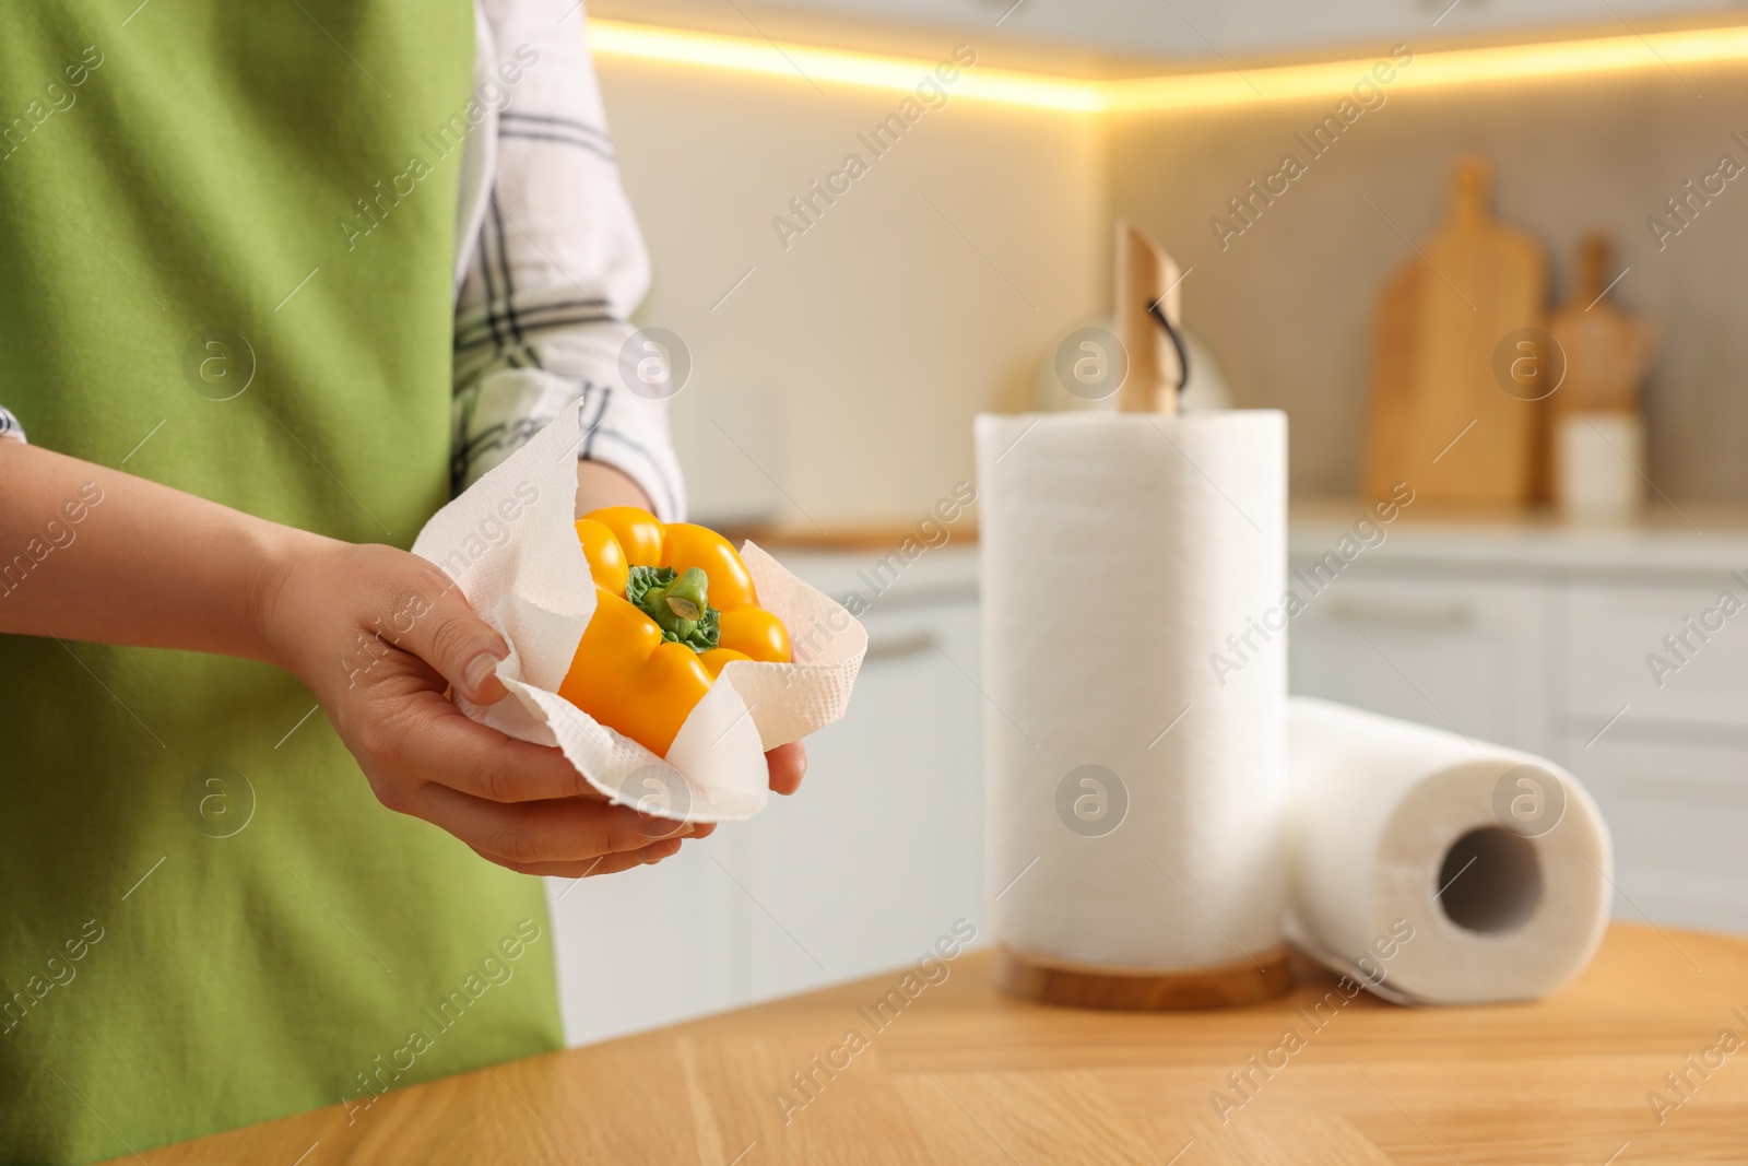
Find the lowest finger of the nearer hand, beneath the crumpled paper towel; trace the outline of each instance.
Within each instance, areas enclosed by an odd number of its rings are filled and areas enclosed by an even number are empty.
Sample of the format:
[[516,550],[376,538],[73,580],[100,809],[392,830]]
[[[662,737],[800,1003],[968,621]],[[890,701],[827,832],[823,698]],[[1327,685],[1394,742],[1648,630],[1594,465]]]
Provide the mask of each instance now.
[[[582,799],[493,802],[444,785],[420,787],[407,813],[449,830],[475,851],[510,867],[568,862],[643,850],[671,837],[676,823],[647,818],[628,806]],[[680,837],[690,827],[680,827]]]

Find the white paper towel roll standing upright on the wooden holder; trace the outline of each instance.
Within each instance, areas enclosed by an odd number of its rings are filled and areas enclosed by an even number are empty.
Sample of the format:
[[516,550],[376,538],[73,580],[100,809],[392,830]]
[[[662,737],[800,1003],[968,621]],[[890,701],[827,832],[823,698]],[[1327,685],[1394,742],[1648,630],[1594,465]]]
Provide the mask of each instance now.
[[996,940],[1278,947],[1285,635],[1252,628],[1285,591],[1285,416],[981,416],[977,467]]

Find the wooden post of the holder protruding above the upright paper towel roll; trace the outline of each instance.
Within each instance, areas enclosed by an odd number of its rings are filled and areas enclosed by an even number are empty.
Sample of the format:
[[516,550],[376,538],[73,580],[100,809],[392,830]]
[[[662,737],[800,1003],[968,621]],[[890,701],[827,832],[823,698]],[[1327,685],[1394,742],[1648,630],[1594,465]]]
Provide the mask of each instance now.
[[1129,355],[1129,376],[1117,390],[1124,413],[1176,413],[1183,360],[1154,311],[1180,327],[1183,292],[1178,266],[1159,243],[1117,220],[1117,339]]

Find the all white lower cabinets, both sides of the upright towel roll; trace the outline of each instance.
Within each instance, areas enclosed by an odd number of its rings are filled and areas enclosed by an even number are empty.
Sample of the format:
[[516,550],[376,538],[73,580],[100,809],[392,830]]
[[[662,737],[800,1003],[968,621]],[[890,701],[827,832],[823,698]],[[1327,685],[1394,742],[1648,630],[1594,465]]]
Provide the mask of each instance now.
[[[1290,570],[1358,517],[1295,512]],[[1722,591],[1748,603],[1731,573],[1748,530],[1383,530],[1314,594],[1299,582],[1292,689],[1554,757],[1613,832],[1619,918],[1748,932],[1748,610],[1689,635],[1662,687],[1645,663]],[[850,717],[809,741],[799,797],[659,867],[551,883],[573,1044],[900,967],[958,918],[982,927],[975,551],[926,551],[897,582],[876,551],[783,558],[872,598]]]

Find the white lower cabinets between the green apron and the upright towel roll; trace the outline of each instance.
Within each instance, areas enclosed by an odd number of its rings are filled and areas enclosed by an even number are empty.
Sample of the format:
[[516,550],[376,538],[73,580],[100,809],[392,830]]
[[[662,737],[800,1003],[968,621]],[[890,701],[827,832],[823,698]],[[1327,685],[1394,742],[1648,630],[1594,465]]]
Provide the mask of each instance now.
[[982,921],[975,551],[897,580],[876,551],[783,559],[871,601],[850,715],[808,739],[797,797],[656,867],[549,879],[572,1044],[914,963]]

